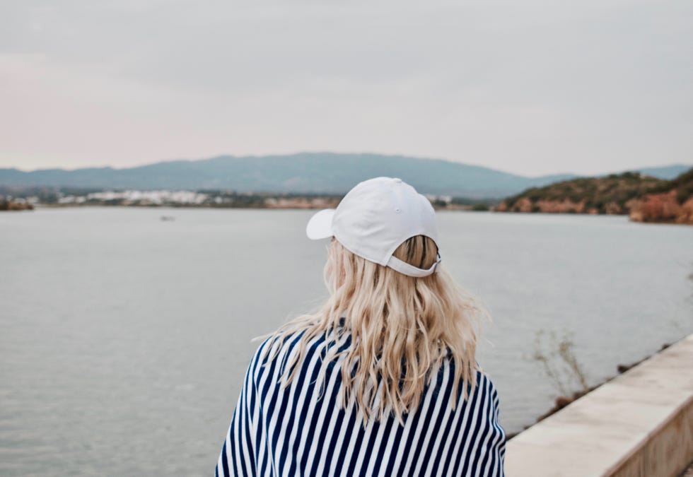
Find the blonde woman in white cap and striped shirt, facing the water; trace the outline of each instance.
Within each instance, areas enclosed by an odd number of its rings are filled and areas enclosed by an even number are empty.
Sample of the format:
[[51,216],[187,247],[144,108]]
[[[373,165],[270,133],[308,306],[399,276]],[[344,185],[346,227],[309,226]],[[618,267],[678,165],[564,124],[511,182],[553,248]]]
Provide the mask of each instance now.
[[498,396],[472,300],[440,265],[435,213],[400,179],[310,219],[330,298],[257,349],[218,476],[502,476]]

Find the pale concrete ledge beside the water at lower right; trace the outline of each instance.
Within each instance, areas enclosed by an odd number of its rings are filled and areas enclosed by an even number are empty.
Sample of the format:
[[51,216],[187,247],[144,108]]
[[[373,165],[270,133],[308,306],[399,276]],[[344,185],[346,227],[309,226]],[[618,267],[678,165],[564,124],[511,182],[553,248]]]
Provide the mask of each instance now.
[[678,476],[693,461],[693,334],[506,448],[508,477]]

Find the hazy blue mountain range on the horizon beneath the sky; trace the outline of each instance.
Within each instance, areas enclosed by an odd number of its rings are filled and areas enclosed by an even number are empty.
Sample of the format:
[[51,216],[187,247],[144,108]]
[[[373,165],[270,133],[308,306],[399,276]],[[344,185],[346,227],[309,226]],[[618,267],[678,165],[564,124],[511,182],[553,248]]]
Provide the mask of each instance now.
[[[649,167],[638,172],[662,179],[690,166]],[[403,155],[297,153],[221,155],[202,160],[172,160],[139,167],[86,167],[75,170],[0,169],[0,186],[81,187],[85,189],[232,189],[238,192],[344,194],[361,180],[400,177],[424,194],[502,198],[529,187],[577,177],[574,174],[527,177],[479,165]]]

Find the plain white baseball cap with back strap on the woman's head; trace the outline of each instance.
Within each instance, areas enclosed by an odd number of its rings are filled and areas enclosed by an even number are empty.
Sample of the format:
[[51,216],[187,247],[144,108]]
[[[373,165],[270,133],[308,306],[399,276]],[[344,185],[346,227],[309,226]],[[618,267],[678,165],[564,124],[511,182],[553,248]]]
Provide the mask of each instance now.
[[430,237],[438,246],[436,212],[431,202],[402,179],[392,177],[359,182],[337,208],[315,213],[308,220],[305,234],[312,240],[334,237],[359,257],[408,276],[429,276],[441,261],[438,254],[429,269],[419,269],[392,257],[404,240],[415,235]]

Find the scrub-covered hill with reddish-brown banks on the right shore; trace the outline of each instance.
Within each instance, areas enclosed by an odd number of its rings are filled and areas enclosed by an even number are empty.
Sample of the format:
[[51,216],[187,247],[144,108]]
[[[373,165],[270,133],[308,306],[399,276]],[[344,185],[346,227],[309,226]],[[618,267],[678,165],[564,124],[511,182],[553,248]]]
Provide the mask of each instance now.
[[624,172],[532,187],[504,199],[496,210],[629,213],[643,222],[693,223],[693,167],[672,180]]

